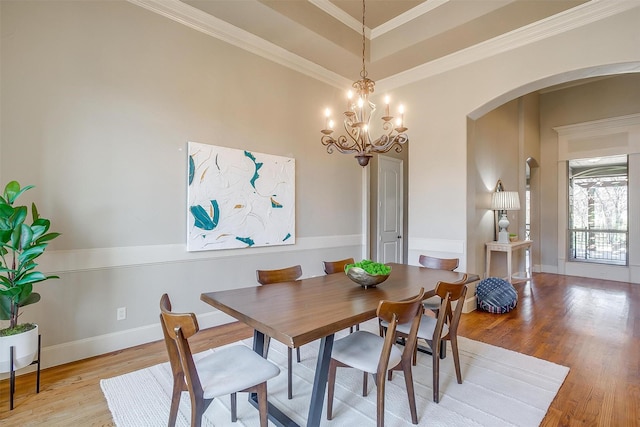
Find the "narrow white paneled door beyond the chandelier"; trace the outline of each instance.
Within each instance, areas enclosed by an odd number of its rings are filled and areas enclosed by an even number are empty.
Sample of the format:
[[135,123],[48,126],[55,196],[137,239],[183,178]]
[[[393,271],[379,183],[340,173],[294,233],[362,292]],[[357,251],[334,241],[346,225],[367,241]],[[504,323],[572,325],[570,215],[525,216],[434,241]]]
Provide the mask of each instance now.
[[378,156],[378,262],[402,263],[402,160]]

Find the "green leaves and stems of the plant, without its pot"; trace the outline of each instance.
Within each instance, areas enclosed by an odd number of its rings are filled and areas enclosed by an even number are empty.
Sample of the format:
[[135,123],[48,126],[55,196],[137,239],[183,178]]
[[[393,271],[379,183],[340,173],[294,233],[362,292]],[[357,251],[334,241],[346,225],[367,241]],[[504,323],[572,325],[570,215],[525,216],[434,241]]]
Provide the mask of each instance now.
[[17,181],[11,181],[0,197],[0,320],[9,320],[9,327],[0,331],[2,335],[11,335],[19,327],[21,307],[40,301],[33,284],[58,278],[35,271],[35,259],[60,233],[48,232],[51,222],[40,217],[35,203],[31,204],[31,225],[25,223],[27,206],[15,205],[31,188],[33,185],[20,188]]

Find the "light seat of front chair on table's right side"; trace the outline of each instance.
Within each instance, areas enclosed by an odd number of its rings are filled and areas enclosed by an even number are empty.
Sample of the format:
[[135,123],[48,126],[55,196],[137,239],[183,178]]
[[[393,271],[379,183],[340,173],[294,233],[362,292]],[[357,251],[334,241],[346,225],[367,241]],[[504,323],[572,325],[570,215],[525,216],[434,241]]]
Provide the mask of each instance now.
[[[331,358],[364,372],[376,373],[384,338],[367,331],[356,331],[333,343]],[[402,359],[402,351],[391,347],[389,368]]]

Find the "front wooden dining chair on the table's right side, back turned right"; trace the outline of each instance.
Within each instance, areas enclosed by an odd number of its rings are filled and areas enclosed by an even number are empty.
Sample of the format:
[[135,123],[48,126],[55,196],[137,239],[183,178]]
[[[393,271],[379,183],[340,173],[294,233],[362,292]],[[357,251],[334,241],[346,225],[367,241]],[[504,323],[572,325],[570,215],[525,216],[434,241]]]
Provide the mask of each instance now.
[[[415,297],[405,301],[380,301],[376,315],[388,324],[389,333],[385,337],[367,331],[356,331],[333,343],[331,361],[329,363],[328,391],[327,391],[327,419],[333,418],[333,394],[338,367],[355,368],[364,372],[362,395],[367,395],[367,376],[373,374],[377,386],[377,425],[384,426],[384,397],[387,371],[402,370],[409,398],[411,421],[418,424],[416,399],[411,373],[413,346],[420,318],[422,315],[422,298],[424,288]],[[400,350],[395,345],[395,330],[399,325],[405,325],[408,330],[406,346]]]

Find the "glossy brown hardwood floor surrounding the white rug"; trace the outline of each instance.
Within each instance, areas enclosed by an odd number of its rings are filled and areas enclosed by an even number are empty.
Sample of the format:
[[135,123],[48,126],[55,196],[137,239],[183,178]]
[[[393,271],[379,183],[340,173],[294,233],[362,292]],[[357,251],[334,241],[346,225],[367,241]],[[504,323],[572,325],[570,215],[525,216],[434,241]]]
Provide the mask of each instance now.
[[[640,285],[536,274],[517,284],[518,307],[504,315],[463,315],[459,334],[571,368],[543,426],[640,425]],[[247,338],[231,324],[198,334],[194,351]],[[0,383],[2,426],[112,426],[100,390],[109,378],[166,361],[156,342],[17,380],[9,411],[8,381]]]

